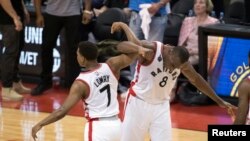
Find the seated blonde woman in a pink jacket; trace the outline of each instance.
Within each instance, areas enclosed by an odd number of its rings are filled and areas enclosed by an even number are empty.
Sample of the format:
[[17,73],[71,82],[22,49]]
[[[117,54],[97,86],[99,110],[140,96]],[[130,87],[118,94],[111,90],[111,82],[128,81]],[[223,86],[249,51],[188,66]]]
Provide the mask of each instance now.
[[194,1],[194,17],[186,17],[182,23],[178,45],[186,46],[189,51],[189,61],[192,65],[198,65],[198,27],[201,25],[219,23],[219,20],[209,16],[213,9],[211,0]]

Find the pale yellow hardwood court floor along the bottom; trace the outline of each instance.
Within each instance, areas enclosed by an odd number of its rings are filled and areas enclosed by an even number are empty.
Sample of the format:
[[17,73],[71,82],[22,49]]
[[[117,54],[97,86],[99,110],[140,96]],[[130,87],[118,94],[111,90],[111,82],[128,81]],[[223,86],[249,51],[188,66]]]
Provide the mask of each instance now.
[[[1,141],[32,141],[31,128],[48,113],[2,108],[0,118]],[[86,120],[79,116],[66,116],[45,126],[38,132],[38,141],[83,141]],[[173,141],[206,141],[207,133],[173,128]],[[145,141],[149,141],[148,137]]]

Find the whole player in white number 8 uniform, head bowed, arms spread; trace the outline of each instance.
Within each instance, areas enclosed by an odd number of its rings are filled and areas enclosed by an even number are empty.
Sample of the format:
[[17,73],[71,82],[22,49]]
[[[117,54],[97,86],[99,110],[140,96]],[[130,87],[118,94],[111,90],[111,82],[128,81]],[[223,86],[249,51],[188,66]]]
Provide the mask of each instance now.
[[[160,27],[159,27],[160,28]],[[152,141],[171,141],[170,92],[182,72],[201,92],[223,108],[236,108],[218,97],[195,71],[185,47],[140,41],[124,23],[117,22],[112,32],[123,30],[129,41],[154,50],[154,56],[138,58],[136,72],[125,104],[121,141],[144,141],[147,132]]]

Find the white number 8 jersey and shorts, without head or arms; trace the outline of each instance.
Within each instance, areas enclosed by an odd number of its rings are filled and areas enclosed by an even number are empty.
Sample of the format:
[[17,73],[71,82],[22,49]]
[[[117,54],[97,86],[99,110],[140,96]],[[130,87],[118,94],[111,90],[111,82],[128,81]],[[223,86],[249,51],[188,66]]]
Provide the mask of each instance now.
[[[121,141],[171,141],[170,92],[180,69],[164,68],[163,44],[154,42],[151,62],[138,61],[128,90]],[[141,118],[143,117],[143,118]]]

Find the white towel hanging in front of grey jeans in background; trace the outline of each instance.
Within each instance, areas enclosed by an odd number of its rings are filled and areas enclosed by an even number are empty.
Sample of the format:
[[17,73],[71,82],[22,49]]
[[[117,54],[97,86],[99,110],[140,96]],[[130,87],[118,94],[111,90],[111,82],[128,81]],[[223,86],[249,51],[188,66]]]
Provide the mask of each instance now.
[[141,16],[142,22],[141,22],[141,29],[144,34],[145,39],[148,39],[148,34],[150,30],[149,24],[151,23],[151,17],[152,15],[148,12],[148,8],[151,6],[151,4],[140,4],[141,10],[139,11],[139,15]]

